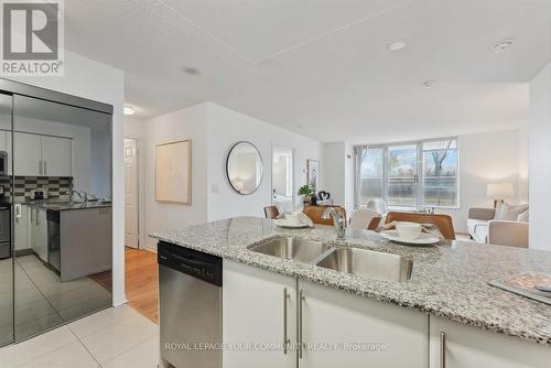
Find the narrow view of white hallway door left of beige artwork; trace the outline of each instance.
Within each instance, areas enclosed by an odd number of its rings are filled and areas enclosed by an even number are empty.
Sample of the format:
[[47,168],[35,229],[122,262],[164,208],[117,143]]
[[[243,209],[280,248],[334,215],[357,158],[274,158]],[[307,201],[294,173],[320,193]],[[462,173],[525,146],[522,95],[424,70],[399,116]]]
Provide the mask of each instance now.
[[125,246],[138,248],[138,150],[133,139],[125,140]]

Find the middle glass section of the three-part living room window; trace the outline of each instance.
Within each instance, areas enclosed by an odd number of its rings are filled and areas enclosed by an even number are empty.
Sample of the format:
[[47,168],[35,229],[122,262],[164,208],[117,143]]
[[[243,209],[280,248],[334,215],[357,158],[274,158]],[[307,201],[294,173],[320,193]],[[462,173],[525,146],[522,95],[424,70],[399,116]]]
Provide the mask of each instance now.
[[391,145],[387,150],[388,205],[418,206],[418,147]]

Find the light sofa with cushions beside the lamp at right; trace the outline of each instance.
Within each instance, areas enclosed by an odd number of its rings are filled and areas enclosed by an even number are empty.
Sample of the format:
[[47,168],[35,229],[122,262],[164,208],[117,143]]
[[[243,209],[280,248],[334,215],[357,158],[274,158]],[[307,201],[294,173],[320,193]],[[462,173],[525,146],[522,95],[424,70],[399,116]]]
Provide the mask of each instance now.
[[471,238],[482,243],[528,248],[528,206],[525,206],[526,210],[515,219],[510,214],[508,218],[505,216],[507,219],[500,219],[504,217],[499,216],[500,207],[469,208],[467,229]]

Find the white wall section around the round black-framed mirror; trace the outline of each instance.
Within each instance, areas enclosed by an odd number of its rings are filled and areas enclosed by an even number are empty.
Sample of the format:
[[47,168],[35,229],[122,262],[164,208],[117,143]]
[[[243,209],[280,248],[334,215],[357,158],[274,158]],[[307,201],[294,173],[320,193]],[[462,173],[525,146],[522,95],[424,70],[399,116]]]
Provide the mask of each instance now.
[[[306,183],[306,160],[321,160],[322,144],[312,139],[269,125],[225,107],[207,105],[207,219],[209,221],[235,216],[261,216],[271,205],[272,144],[294,149],[294,187]],[[263,177],[257,192],[237,194],[226,177],[226,156],[238,141],[257,147],[263,161]],[[321,173],[321,186],[324,185]]]

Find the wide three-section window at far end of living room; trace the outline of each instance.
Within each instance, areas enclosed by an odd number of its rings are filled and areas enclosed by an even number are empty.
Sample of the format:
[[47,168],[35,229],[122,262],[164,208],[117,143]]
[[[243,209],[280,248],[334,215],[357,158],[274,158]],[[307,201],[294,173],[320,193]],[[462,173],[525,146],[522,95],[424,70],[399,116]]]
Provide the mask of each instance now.
[[356,147],[356,206],[456,207],[458,161],[456,138]]

